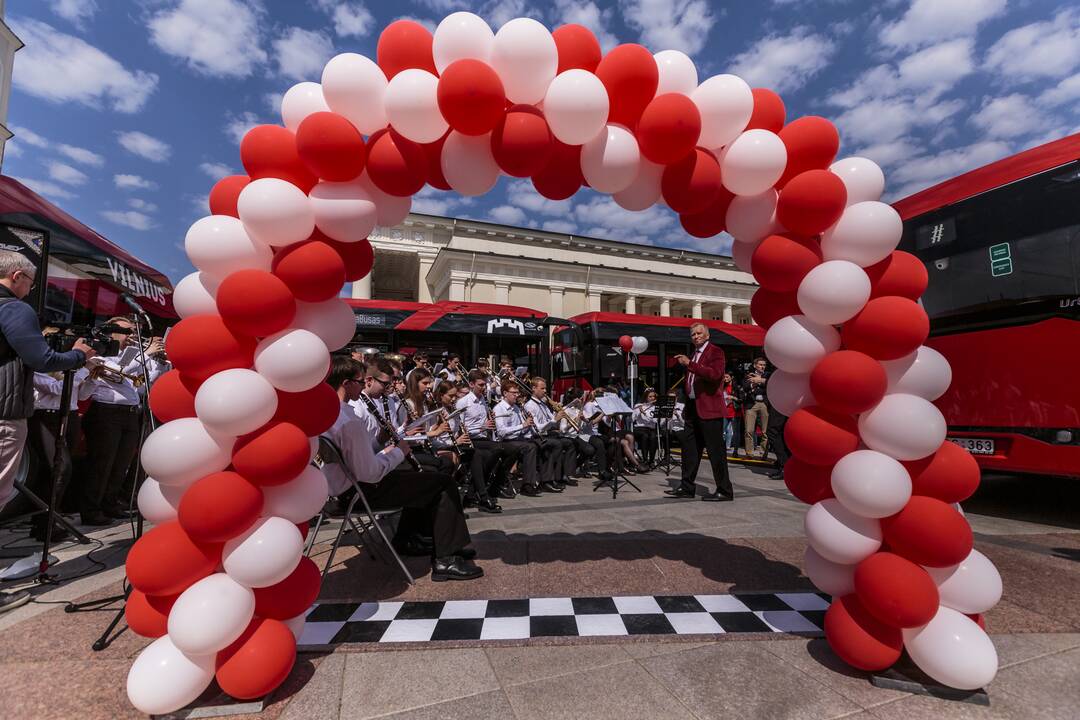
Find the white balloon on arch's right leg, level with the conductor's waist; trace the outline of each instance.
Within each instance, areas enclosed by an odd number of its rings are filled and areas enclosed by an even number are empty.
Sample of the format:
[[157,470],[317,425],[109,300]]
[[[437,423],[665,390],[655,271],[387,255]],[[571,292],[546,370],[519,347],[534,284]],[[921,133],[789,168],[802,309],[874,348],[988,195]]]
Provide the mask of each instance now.
[[859,435],[872,450],[896,460],[918,460],[945,441],[945,418],[918,395],[890,393],[859,416]]

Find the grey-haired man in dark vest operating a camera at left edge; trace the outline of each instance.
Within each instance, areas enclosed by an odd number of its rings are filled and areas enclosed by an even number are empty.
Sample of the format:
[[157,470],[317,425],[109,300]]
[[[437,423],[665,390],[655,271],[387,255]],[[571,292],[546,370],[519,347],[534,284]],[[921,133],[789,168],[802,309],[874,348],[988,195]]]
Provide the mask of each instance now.
[[[15,475],[26,447],[26,420],[33,415],[33,372],[70,370],[94,351],[78,340],[57,353],[41,335],[33,309],[23,302],[37,268],[18,253],[0,250],[0,507],[15,494]],[[0,612],[30,599],[28,593],[0,593]]]

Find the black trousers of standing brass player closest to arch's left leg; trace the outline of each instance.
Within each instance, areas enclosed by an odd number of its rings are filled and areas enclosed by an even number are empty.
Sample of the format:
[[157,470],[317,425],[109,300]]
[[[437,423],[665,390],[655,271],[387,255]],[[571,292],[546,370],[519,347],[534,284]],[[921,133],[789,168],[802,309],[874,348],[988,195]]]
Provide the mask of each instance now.
[[79,511],[99,513],[112,505],[127,507],[121,497],[127,468],[138,452],[143,415],[137,405],[108,405],[95,402],[83,418],[86,435],[87,477]]

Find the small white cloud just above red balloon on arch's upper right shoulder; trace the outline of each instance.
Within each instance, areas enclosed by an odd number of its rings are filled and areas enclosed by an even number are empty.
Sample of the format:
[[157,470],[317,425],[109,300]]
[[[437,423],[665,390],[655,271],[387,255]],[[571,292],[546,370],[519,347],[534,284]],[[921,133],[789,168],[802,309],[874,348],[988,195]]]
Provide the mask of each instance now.
[[778,93],[798,90],[828,65],[836,43],[824,35],[797,27],[786,36],[769,35],[735,55],[731,72],[752,86]]

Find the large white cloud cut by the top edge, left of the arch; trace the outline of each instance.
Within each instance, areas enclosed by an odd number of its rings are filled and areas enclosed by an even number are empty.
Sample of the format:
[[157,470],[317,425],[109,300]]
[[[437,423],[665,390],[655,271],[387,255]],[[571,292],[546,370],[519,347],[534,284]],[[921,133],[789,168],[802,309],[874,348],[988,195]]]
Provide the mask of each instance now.
[[246,78],[267,62],[262,12],[251,0],[168,0],[150,18],[150,40],[202,74]]

